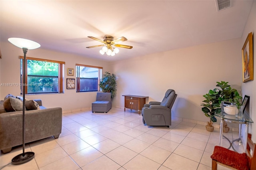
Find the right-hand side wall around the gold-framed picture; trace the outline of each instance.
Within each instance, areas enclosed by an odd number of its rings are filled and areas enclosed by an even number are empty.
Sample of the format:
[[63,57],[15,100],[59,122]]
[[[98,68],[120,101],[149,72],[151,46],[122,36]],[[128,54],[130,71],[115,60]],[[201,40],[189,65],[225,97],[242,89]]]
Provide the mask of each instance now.
[[250,104],[249,104],[249,113],[251,119],[254,123],[251,123],[249,126],[249,132],[252,133],[252,140],[256,142],[256,38],[255,38],[255,31],[256,31],[256,1],[254,1],[250,15],[246,22],[246,27],[244,29],[240,48],[242,49],[244,42],[250,32],[253,34],[253,51],[254,51],[254,80],[249,81],[247,83],[242,83],[242,94],[250,96]]

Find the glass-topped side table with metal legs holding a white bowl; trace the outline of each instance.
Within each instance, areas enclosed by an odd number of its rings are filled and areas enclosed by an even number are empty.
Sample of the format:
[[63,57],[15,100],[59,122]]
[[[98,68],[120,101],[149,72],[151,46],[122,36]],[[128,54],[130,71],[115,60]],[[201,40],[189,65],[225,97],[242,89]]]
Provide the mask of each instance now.
[[[242,141],[241,141],[242,124],[246,124],[246,133],[248,133],[249,123],[253,123],[252,119],[249,117],[249,115],[246,112],[244,112],[242,118],[238,118],[238,117],[236,117],[236,115],[228,115],[224,112],[216,113],[215,115],[217,117],[220,117],[220,144],[219,145],[222,146],[222,138],[224,137],[230,142],[229,148],[232,147],[234,149],[234,151],[236,151],[236,149],[233,146],[233,143],[235,141],[239,141],[239,143],[242,143]],[[223,135],[223,122],[224,121],[229,122],[229,123],[238,123],[239,124],[239,132],[238,132],[239,138],[238,139],[235,139],[231,142],[226,136]]]

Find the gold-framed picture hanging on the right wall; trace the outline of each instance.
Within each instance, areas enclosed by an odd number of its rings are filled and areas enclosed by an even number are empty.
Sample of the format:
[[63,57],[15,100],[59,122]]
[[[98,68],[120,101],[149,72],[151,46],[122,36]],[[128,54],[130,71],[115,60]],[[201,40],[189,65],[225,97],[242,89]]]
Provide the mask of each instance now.
[[253,46],[250,32],[242,48],[243,83],[253,80]]

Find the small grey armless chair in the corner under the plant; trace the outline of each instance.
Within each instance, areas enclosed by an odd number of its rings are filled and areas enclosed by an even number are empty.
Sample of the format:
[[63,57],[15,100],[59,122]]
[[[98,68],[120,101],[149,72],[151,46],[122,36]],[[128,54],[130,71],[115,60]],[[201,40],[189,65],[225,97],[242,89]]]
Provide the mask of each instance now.
[[92,103],[92,112],[108,113],[111,107],[111,93],[98,92],[96,95],[96,101]]

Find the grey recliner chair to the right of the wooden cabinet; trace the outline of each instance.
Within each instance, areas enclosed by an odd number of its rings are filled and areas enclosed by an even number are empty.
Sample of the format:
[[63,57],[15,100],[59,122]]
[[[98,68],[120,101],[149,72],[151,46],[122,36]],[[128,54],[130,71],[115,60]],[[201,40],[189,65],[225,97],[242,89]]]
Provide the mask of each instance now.
[[150,101],[142,108],[142,122],[148,126],[171,125],[172,106],[177,97],[173,89],[168,89],[162,102]]

